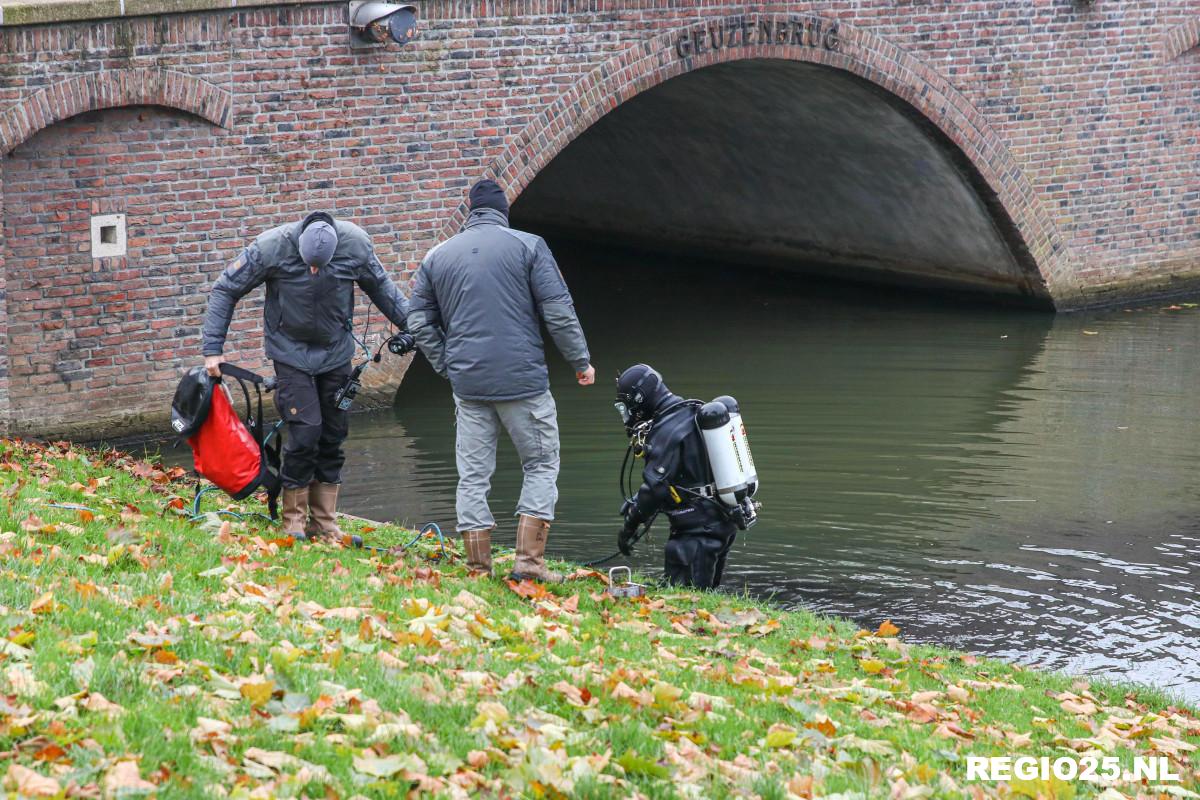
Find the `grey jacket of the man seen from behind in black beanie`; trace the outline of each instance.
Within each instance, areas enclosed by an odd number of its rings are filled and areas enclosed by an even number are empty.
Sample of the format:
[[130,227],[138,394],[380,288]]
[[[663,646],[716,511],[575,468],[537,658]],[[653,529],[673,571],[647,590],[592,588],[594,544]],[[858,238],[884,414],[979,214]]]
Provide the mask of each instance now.
[[541,324],[576,372],[590,362],[571,293],[541,236],[475,209],[462,233],[428,252],[408,327],[462,399],[511,401],[550,389]]

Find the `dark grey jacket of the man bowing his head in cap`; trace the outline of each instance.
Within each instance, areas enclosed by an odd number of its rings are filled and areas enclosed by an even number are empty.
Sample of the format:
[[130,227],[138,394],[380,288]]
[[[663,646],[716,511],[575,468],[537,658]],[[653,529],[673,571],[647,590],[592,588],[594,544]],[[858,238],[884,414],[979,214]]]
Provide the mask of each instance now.
[[394,325],[404,329],[408,301],[384,272],[371,236],[336,221],[337,249],[317,273],[300,258],[304,222],[259,235],[217,278],[204,315],[204,355],[221,355],[234,306],[266,283],[263,336],[266,356],[312,375],[336,369],[354,355],[354,284]]

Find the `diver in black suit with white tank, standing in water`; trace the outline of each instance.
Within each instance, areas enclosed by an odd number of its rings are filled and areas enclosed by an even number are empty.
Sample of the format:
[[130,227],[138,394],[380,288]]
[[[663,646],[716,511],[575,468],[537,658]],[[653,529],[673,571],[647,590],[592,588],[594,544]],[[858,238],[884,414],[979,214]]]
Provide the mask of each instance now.
[[[665,512],[671,527],[664,553],[666,581],[718,588],[738,530],[755,522],[756,504],[750,498],[757,491],[757,475],[737,402],[684,399],[654,368],[638,363],[617,379],[616,405],[630,452],[646,459],[642,486],[622,507],[620,552],[631,554],[655,516]],[[628,458],[629,453],[626,463]]]

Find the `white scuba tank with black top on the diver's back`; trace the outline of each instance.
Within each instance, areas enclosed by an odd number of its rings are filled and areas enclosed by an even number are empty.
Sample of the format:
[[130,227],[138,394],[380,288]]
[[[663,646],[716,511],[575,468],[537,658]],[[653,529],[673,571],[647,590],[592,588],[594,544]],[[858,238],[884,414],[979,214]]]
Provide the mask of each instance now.
[[[731,408],[732,407],[732,408]],[[738,402],[724,396],[704,403],[696,415],[713,473],[713,495],[728,510],[738,528],[745,530],[757,522],[755,503],[758,475],[750,456]]]

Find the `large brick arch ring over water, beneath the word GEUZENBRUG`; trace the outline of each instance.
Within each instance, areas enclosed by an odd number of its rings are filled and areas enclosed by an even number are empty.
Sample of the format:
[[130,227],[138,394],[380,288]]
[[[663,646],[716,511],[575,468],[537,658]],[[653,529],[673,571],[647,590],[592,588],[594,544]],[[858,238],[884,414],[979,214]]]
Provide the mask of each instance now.
[[[788,18],[748,14],[752,25]],[[727,23],[740,17],[714,19]],[[815,19],[815,18],[804,18]],[[642,92],[707,67],[743,60],[798,61],[850,73],[914,109],[923,121],[953,144],[976,174],[1001,222],[1014,255],[1032,272],[1032,293],[1055,302],[1070,301],[1075,287],[1070,253],[1043,207],[1032,184],[1000,134],[973,104],[935,68],[892,42],[836,19],[818,20],[826,31],[836,25],[835,49],[808,43],[708,48],[680,52],[679,37],[695,29],[668,31],[626,48],[592,70],[556,98],[506,144],[486,170],[516,200],[542,169],[601,118]],[[460,207],[448,228],[462,221]]]

